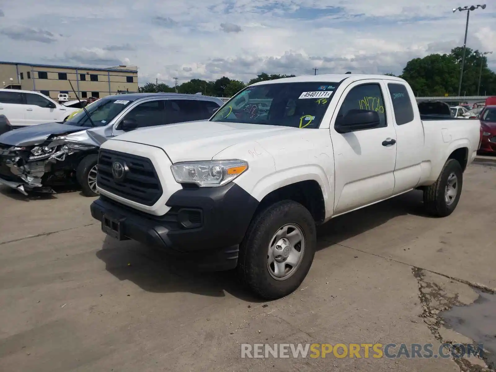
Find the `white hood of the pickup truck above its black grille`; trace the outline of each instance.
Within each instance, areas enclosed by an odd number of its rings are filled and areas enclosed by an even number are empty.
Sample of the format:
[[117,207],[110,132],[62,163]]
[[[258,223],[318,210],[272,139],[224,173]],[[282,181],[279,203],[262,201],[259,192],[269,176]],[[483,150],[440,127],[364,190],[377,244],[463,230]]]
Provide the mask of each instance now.
[[291,132],[302,135],[302,129],[289,126],[196,121],[139,129],[109,141],[120,140],[159,147],[173,163],[177,163],[210,160],[229,146]]

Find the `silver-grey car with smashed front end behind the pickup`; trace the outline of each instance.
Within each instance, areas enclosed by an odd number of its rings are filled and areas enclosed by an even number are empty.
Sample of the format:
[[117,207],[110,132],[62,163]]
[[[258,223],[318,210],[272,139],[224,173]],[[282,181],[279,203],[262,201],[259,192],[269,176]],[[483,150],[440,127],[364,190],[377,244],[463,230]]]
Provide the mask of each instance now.
[[[123,98],[124,97],[124,98]],[[101,98],[64,123],[14,129],[0,135],[0,184],[27,194],[81,186],[96,196],[98,149],[107,139],[147,126],[206,120],[219,98],[133,93]]]

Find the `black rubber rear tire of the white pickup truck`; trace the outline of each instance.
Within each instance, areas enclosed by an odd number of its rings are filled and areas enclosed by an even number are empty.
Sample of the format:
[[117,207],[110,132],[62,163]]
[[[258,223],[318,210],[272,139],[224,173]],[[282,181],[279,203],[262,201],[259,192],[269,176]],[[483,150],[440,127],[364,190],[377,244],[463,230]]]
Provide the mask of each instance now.
[[[445,200],[445,190],[448,178],[454,174],[457,178],[456,195],[448,204]],[[427,212],[435,217],[449,216],[456,208],[463,186],[463,172],[460,163],[455,159],[448,159],[439,174],[437,181],[424,189],[424,206]]]

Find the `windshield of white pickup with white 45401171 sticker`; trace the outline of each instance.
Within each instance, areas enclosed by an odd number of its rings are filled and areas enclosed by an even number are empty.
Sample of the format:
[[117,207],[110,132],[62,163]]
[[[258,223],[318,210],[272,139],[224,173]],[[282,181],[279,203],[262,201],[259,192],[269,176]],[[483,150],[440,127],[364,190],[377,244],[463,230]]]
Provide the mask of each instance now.
[[211,121],[318,128],[338,85],[297,82],[249,86],[231,98]]

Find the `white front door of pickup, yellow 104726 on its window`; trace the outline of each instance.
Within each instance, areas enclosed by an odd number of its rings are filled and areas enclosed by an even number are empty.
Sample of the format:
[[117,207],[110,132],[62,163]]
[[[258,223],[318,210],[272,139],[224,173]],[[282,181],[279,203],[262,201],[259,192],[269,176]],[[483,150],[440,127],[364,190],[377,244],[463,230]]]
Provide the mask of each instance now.
[[[356,81],[339,98],[331,122],[335,162],[334,214],[344,213],[393,194],[396,132],[382,80]],[[372,110],[380,124],[372,129],[338,133],[334,124],[350,110]]]

